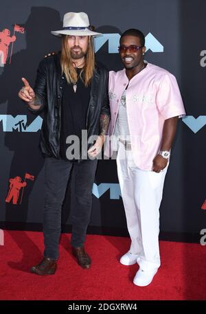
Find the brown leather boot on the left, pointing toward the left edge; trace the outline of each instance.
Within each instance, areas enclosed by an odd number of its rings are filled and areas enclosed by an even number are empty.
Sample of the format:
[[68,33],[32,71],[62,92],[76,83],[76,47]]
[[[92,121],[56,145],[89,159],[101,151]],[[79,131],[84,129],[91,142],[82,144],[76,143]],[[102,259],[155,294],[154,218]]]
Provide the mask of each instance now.
[[33,266],[30,271],[38,275],[54,275],[56,271],[56,260],[52,258],[43,258],[43,260],[36,266]]

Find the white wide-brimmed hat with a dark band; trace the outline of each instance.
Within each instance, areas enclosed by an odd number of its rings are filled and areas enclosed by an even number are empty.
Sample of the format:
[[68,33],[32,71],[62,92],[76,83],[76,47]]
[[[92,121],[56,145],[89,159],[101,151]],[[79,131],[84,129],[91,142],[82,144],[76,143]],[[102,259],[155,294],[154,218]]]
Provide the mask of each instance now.
[[68,12],[64,15],[63,30],[51,32],[53,35],[61,37],[62,35],[73,36],[97,36],[101,33],[90,30],[88,15],[84,12]]

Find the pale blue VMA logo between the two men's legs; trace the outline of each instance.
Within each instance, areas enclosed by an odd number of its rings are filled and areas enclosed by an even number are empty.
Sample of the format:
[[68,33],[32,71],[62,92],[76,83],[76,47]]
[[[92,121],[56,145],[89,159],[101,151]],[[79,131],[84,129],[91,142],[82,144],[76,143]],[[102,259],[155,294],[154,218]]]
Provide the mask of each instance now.
[[93,183],[92,192],[98,199],[100,199],[107,190],[110,190],[110,199],[119,199],[119,197],[122,196],[119,184],[117,183],[100,183],[99,186]]

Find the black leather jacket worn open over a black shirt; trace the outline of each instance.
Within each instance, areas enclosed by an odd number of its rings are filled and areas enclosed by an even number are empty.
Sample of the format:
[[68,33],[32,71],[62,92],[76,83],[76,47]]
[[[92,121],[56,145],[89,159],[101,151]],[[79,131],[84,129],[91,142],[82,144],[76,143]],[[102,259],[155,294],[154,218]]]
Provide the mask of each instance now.
[[[41,108],[33,113],[44,111],[43,125],[39,148],[43,155],[60,158],[60,128],[62,82],[65,76],[61,74],[60,53],[49,56],[38,66],[34,91]],[[108,71],[103,65],[97,64],[91,80],[91,95],[87,111],[88,138],[100,134],[100,115],[110,116],[108,105]],[[88,145],[89,148],[90,145]]]

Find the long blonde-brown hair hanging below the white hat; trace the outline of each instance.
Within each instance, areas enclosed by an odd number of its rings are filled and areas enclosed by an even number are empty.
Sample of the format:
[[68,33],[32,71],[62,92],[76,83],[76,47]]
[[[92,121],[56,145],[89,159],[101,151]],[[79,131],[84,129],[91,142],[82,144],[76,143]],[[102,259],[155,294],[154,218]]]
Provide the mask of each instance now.
[[[95,67],[95,54],[93,49],[93,38],[89,38],[87,54],[85,55],[85,62],[82,71],[80,72],[80,78],[87,87],[91,78],[93,76],[93,71]],[[76,69],[73,67],[71,60],[71,54],[68,47],[68,35],[62,37],[62,53],[60,58],[60,65],[62,68],[62,73],[65,73],[68,83],[75,83],[78,79]],[[84,70],[84,78],[82,78],[82,72]]]

